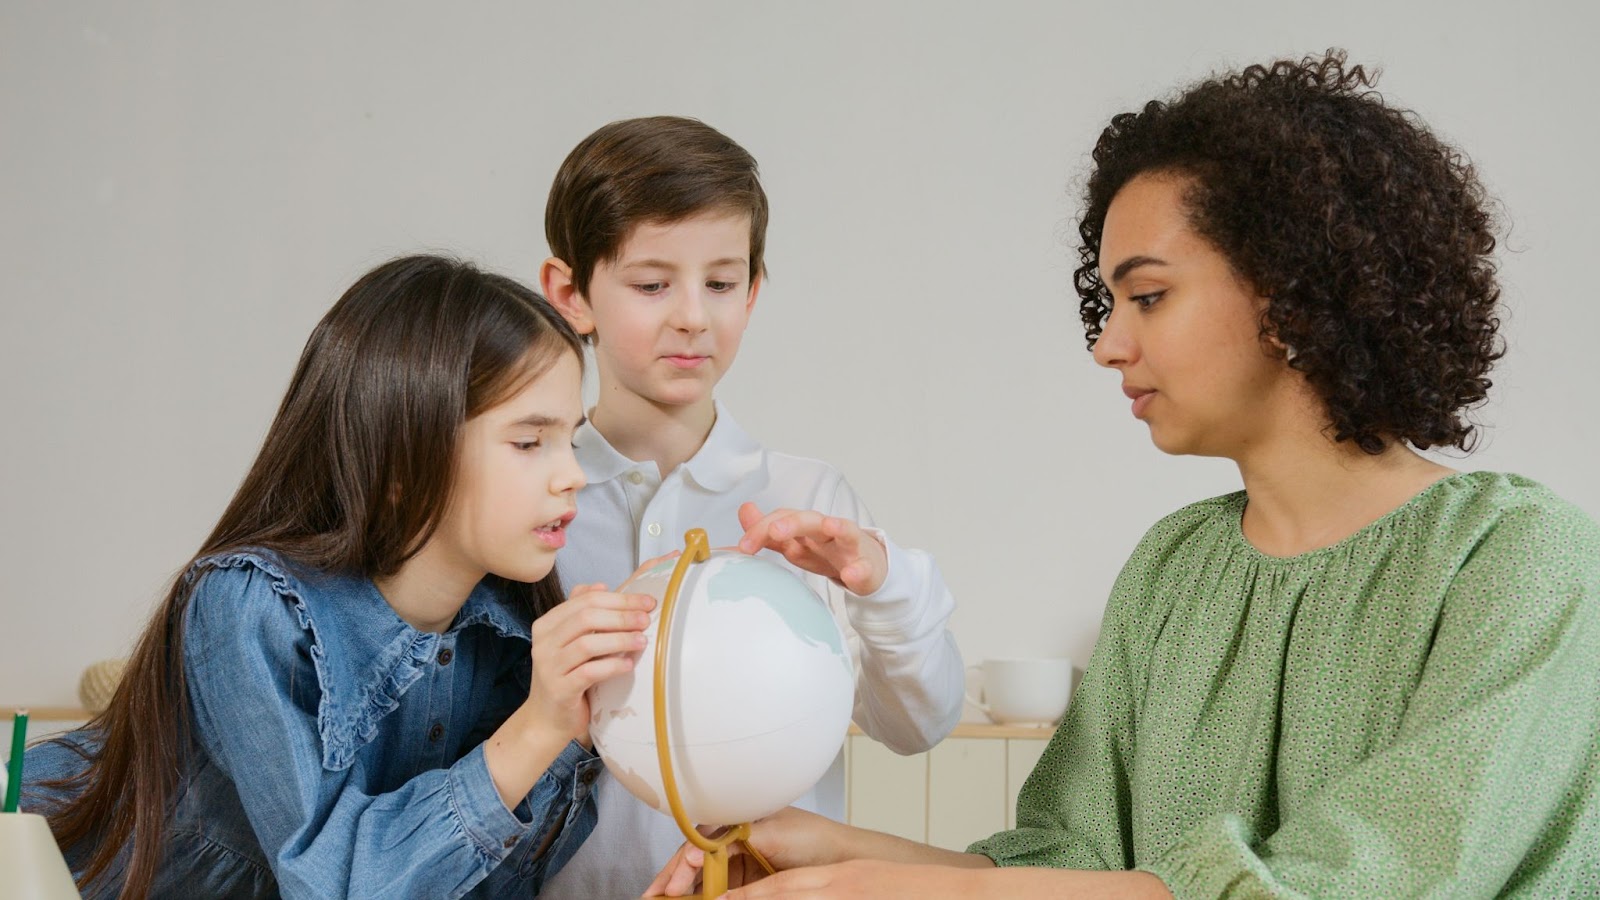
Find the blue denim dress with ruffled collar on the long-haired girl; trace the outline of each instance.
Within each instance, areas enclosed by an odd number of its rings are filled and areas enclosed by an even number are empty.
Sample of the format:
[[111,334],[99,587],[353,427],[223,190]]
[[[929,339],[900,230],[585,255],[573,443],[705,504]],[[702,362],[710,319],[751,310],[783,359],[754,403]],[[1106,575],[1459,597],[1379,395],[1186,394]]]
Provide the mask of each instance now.
[[[576,741],[515,809],[490,778],[483,740],[531,677],[531,623],[490,581],[432,634],[371,580],[267,551],[189,577],[194,743],[152,897],[531,897],[594,830],[602,764]],[[37,781],[85,762],[45,743],[26,765],[24,806],[46,812],[59,794]],[[69,849],[74,873],[86,860]]]

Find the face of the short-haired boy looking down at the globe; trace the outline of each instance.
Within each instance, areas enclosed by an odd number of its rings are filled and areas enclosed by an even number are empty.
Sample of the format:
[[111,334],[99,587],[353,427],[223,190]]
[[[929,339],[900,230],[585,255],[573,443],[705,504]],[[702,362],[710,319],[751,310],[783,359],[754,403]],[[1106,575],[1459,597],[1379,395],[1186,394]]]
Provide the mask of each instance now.
[[[750,218],[701,213],[640,224],[595,267],[579,331],[595,333],[600,402],[709,405],[755,307]],[[618,397],[618,394],[622,397]]]

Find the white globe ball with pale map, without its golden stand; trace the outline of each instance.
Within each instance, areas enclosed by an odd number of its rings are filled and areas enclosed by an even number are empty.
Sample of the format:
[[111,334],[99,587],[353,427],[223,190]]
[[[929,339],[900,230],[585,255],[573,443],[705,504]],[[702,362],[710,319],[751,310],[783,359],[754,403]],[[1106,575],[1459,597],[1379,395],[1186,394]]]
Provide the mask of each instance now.
[[[630,673],[589,690],[589,733],[606,769],[667,815],[653,663],[677,565],[667,559],[618,588],[656,597],[646,644]],[[685,569],[667,633],[667,735],[688,820],[752,822],[816,785],[845,740],[856,692],[827,604],[789,569],[718,549]]]

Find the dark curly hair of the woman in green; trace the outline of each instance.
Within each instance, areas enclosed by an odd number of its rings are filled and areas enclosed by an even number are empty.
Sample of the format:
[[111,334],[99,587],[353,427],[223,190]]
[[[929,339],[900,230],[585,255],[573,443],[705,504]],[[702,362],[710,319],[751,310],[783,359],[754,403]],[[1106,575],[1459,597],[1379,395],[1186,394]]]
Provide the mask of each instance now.
[[1294,349],[1334,440],[1470,450],[1464,413],[1504,352],[1488,200],[1462,154],[1374,85],[1330,50],[1114,117],[1078,223],[1090,348],[1112,304],[1099,277],[1112,197],[1142,173],[1181,175],[1190,224],[1269,298],[1262,338]]

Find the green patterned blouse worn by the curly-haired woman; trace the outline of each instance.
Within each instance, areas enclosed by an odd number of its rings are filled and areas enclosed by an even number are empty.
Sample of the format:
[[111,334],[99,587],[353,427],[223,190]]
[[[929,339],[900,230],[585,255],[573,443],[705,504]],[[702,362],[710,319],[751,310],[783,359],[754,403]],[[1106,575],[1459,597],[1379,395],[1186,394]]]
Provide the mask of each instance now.
[[1245,495],[1123,567],[998,865],[1187,897],[1600,897],[1600,527],[1450,476],[1270,557]]

